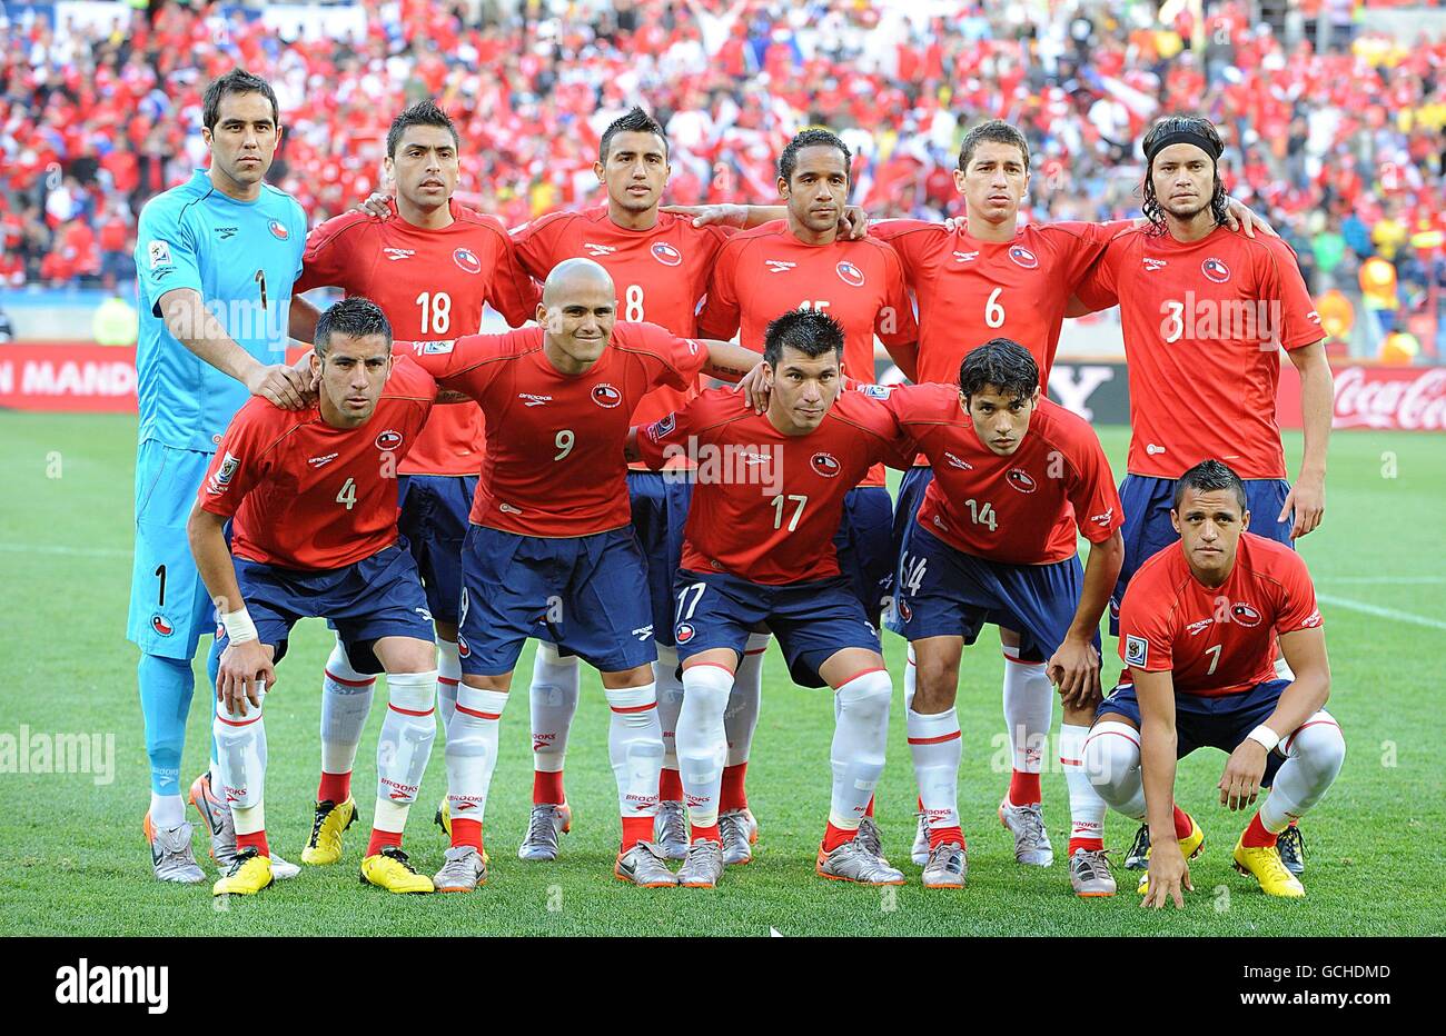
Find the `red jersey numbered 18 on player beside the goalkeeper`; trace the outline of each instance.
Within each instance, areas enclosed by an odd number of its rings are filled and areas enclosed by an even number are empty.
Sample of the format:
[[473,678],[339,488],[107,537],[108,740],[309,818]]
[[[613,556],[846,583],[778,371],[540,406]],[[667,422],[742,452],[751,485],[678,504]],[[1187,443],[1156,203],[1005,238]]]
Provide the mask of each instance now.
[[[295,293],[341,288],[382,306],[399,341],[455,338],[482,328],[484,302],[521,327],[536,314],[538,289],[503,225],[451,202],[453,223],[422,230],[395,215],[346,212],[307,236]],[[403,475],[474,475],[482,468],[482,413],[442,406],[399,470]]]

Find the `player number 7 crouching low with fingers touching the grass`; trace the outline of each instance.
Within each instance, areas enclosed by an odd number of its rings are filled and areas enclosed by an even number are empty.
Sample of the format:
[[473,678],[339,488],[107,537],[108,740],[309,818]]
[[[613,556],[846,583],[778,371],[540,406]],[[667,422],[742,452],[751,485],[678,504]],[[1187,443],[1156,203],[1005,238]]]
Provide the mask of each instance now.
[[[1274,516],[1274,506],[1271,516]],[[1235,844],[1235,867],[1270,896],[1304,887],[1277,839],[1340,773],[1345,740],[1325,711],[1326,631],[1306,562],[1288,545],[1246,532],[1239,475],[1207,459],[1176,480],[1170,520],[1180,539],[1129,581],[1119,608],[1126,672],[1099,707],[1084,764],[1111,808],[1150,826],[1142,906],[1184,906],[1187,858],[1205,842],[1174,803],[1176,760],[1196,748],[1229,753],[1220,805],[1265,802]],[[1275,673],[1275,646],[1293,670]]]

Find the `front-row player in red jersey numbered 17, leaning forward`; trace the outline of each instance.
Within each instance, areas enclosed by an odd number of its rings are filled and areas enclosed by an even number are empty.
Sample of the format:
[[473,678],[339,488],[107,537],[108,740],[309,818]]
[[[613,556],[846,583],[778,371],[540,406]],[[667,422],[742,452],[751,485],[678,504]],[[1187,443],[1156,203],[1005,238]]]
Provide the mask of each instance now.
[[763,373],[772,383],[765,413],[713,390],[629,436],[632,454],[654,468],[680,452],[698,459],[674,584],[684,685],[678,760],[693,824],[678,871],[684,886],[713,887],[723,873],[723,714],[759,623],[778,637],[797,683],[836,692],[833,796],[818,874],[904,881],[860,832],[884,770],[892,683],[878,630],[840,572],[834,538],[844,498],[869,467],[908,461],[878,402],[839,396],[843,348],[843,329],[824,312],[787,312],[765,334]]

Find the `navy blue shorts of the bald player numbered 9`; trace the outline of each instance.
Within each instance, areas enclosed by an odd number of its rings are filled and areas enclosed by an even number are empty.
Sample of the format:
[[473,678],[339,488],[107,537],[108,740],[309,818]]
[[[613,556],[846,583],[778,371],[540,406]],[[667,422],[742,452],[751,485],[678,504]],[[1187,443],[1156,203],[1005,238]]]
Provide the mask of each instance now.
[[474,676],[512,672],[528,637],[604,673],[656,660],[648,571],[632,526],[519,536],[473,525],[461,555],[457,653]]

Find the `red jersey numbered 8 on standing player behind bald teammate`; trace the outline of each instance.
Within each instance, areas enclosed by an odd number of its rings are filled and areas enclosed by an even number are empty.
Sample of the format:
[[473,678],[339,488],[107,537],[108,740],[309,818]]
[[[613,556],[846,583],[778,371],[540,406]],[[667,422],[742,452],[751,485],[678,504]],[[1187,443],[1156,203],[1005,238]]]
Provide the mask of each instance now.
[[[564,259],[591,259],[613,277],[619,321],[646,321],[693,338],[709,270],[733,233],[729,227],[694,227],[693,217],[674,212],[658,212],[649,230],[628,230],[607,218],[607,205],[597,205],[549,212],[516,227],[512,240],[522,267],[538,280],[547,280]],[[655,389],[639,400],[632,422],[643,425],[669,415],[697,392],[697,384]]]

